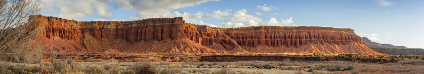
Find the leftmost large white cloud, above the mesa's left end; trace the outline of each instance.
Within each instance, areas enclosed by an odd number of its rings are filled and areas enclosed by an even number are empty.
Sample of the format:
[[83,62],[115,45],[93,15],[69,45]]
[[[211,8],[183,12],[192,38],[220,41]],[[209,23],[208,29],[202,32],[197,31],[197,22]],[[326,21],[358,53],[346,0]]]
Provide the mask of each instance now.
[[42,0],[40,8],[47,14],[58,13],[58,17],[66,19],[85,18],[86,15],[110,18],[111,0]]

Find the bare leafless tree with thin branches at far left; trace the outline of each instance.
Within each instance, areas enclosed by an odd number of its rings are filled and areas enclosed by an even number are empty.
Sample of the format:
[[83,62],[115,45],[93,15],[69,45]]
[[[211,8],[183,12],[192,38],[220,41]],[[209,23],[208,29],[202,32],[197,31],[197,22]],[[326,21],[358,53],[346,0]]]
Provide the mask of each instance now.
[[[32,44],[36,41],[37,34],[44,31],[45,27],[33,25],[31,15],[40,13],[39,0],[0,0],[0,56],[22,56],[33,51]],[[29,55],[35,56],[35,55]],[[25,60],[17,59],[18,62]]]

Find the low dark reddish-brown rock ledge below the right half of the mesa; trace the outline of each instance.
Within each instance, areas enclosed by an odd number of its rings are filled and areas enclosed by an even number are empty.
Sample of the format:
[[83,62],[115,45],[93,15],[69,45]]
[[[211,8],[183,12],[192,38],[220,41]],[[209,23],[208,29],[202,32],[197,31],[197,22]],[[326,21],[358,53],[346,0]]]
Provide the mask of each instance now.
[[235,61],[350,61],[364,63],[396,63],[399,58],[362,58],[362,57],[308,57],[308,56],[233,56],[233,55],[214,55],[201,56],[200,61],[209,62],[235,62]]

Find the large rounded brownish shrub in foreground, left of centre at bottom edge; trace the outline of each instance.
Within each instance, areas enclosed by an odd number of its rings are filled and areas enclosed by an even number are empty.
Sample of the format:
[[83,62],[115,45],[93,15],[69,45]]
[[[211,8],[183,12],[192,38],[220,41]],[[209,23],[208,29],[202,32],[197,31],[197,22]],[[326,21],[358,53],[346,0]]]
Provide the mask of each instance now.
[[155,74],[156,66],[150,65],[150,62],[142,62],[134,64],[131,66],[131,69],[136,72],[136,74]]

